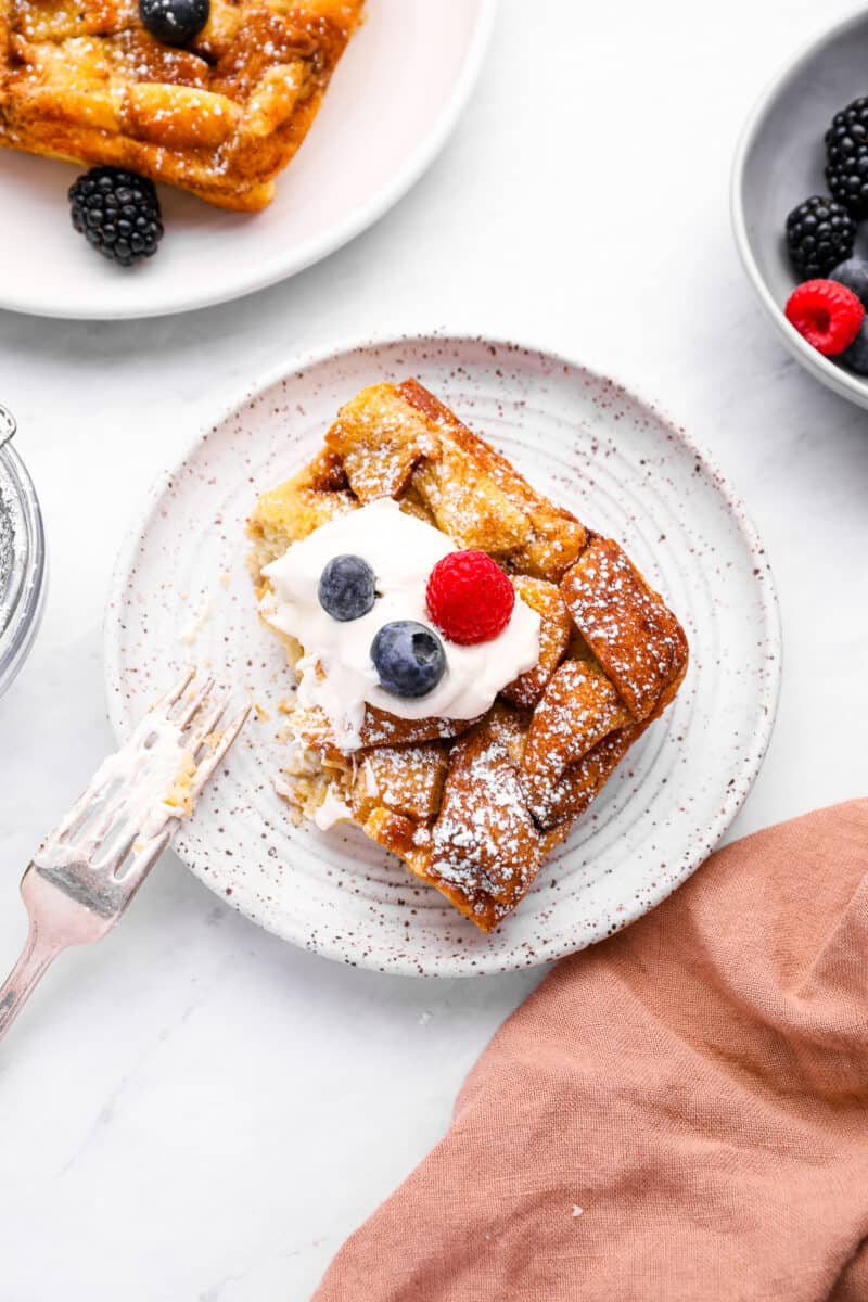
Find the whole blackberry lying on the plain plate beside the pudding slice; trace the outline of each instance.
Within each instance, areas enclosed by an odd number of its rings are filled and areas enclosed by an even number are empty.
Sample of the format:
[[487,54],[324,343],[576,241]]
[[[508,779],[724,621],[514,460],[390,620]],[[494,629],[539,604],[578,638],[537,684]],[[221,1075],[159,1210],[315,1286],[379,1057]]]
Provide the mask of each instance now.
[[154,182],[118,167],[94,167],[69,187],[75,230],[104,258],[131,267],[163,238]]

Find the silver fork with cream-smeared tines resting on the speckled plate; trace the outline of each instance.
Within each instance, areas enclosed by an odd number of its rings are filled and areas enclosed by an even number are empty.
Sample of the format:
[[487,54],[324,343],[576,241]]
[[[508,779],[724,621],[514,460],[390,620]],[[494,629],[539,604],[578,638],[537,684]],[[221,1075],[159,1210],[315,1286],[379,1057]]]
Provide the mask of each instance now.
[[112,930],[241,732],[250,707],[217,733],[229,698],[212,693],[213,680],[197,685],[193,669],[176,682],[27,866],[30,932],[0,986],[0,1036],[59,953]]

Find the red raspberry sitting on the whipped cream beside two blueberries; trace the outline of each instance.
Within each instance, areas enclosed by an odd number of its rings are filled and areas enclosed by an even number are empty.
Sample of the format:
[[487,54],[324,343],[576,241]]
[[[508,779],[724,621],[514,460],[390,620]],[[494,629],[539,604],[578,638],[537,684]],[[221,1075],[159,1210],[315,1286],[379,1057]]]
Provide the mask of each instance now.
[[450,552],[428,579],[428,615],[450,642],[474,646],[502,633],[515,605],[513,585],[485,552]]

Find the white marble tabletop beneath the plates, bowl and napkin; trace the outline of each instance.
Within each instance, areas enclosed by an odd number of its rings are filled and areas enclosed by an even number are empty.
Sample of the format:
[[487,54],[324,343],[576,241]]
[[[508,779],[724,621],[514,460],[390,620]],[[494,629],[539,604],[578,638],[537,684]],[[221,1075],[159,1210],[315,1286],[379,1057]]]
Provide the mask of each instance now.
[[[727,217],[740,121],[848,5],[822,8],[502,0],[452,143],[329,262],[168,320],[0,315],[0,397],[52,561],[40,639],[0,702],[0,956],[23,939],[21,868],[111,745],[103,598],[147,482],[250,376],[368,328],[557,344],[661,400],[740,487],[778,579],[781,712],[734,831],[864,792],[867,418],[777,344]],[[0,1049],[0,1302],[308,1297],[535,979],[337,967],[167,857]]]

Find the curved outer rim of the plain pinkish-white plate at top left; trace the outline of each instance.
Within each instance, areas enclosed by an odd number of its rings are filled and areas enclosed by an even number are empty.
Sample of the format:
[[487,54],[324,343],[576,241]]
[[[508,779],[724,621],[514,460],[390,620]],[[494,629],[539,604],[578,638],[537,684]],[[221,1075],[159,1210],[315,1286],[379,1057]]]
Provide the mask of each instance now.
[[479,5],[476,26],[467,44],[465,62],[453,92],[444,103],[440,116],[429,132],[419,141],[413,156],[367,203],[349,212],[344,221],[336,221],[318,237],[292,249],[280,263],[267,266],[256,275],[241,273],[234,279],[228,277],[223,285],[211,292],[197,289],[186,297],[178,297],[172,303],[152,307],[137,307],[133,303],[129,310],[122,306],[115,306],[111,311],[94,310],[87,303],[70,306],[62,297],[55,302],[35,303],[26,296],[17,297],[9,293],[3,285],[0,285],[0,307],[27,316],[48,316],[62,320],[143,320],[154,316],[177,316],[181,312],[216,307],[220,303],[254,294],[260,289],[268,289],[271,285],[289,280],[337,253],[344,245],[350,243],[357,236],[375,225],[413,189],[436,160],[461,121],[483,69],[497,14],[497,0],[476,0],[476,3]]

